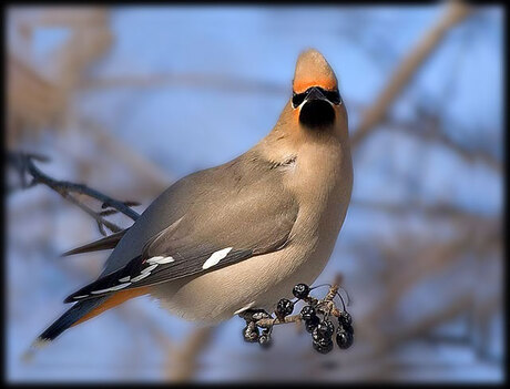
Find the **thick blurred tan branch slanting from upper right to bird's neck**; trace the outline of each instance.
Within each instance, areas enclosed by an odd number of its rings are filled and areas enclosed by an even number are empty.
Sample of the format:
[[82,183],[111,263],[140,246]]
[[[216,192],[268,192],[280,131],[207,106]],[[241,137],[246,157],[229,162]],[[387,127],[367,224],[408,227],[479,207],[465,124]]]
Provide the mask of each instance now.
[[439,47],[446,33],[457,23],[465,20],[470,12],[471,9],[461,2],[449,2],[445,16],[401,61],[375,103],[363,114],[358,127],[350,137],[350,144],[354,149],[357,147],[377,125],[384,122],[391,104],[416,75],[434,50]]

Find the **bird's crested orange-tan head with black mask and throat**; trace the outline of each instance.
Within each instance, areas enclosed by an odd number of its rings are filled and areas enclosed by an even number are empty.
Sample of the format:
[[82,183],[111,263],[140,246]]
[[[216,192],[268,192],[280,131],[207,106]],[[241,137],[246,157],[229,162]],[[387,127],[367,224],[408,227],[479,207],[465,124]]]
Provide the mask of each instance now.
[[324,131],[338,123],[347,126],[335,72],[317,50],[306,50],[297,59],[290,105],[295,117],[308,130]]

